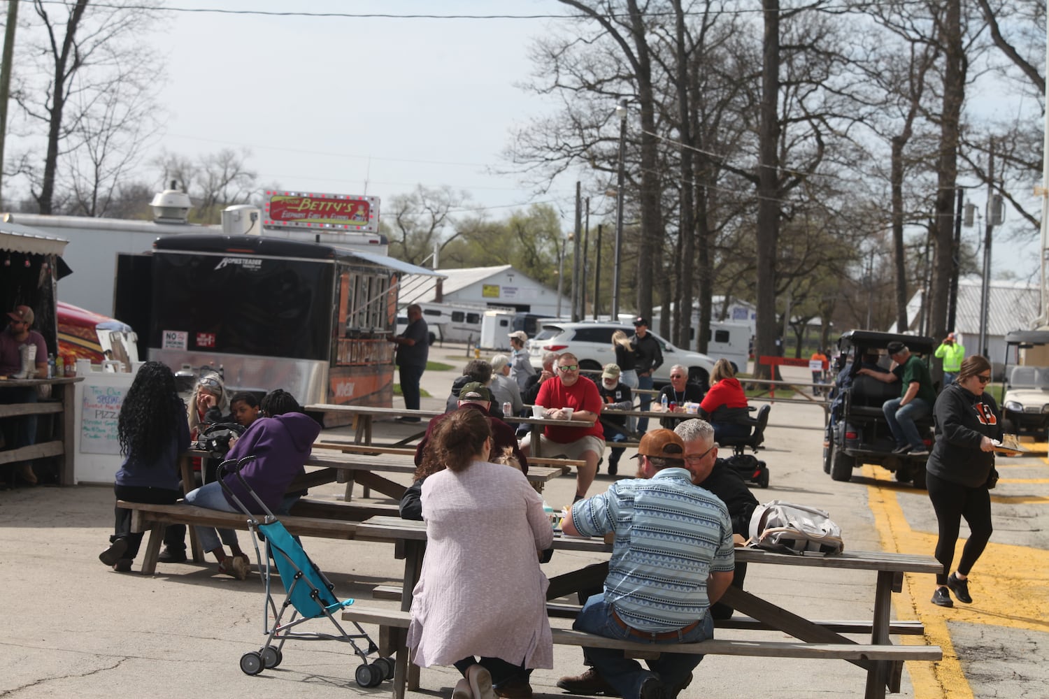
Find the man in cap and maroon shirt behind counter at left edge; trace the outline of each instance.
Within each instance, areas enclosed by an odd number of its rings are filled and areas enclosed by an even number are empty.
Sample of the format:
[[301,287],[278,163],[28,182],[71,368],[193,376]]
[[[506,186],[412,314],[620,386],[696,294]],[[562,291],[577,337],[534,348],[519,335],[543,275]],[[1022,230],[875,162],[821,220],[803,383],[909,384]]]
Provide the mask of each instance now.
[[[28,306],[16,306],[15,310],[7,313],[7,327],[0,332],[0,376],[18,376],[22,371],[21,348],[23,345],[31,345],[37,348],[34,370],[22,378],[47,378],[47,345],[44,344],[43,335],[29,329],[35,320],[33,309]],[[37,402],[37,387],[0,389],[0,403],[20,402]],[[6,449],[35,444],[37,416],[26,415],[6,420],[4,440]],[[21,464],[18,474],[26,483],[36,485],[37,475],[33,472],[31,463]]]

